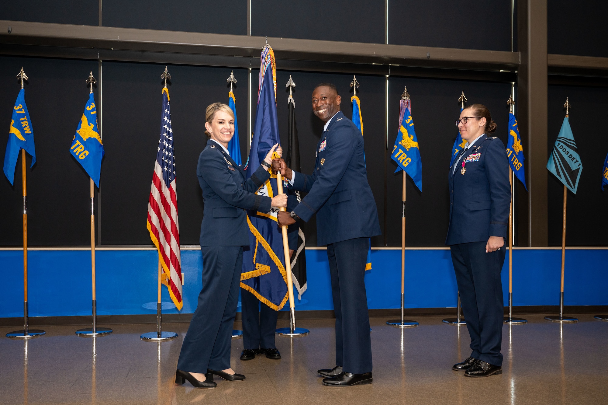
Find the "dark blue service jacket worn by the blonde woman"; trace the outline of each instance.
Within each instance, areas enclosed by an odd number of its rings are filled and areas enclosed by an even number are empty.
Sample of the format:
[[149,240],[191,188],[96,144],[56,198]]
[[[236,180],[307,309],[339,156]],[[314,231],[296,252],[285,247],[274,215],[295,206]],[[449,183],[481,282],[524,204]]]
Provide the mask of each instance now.
[[244,170],[209,139],[198,157],[196,176],[204,200],[201,246],[249,246],[245,210],[270,210],[272,198],[254,194],[270,178],[268,170],[260,165],[245,180]]

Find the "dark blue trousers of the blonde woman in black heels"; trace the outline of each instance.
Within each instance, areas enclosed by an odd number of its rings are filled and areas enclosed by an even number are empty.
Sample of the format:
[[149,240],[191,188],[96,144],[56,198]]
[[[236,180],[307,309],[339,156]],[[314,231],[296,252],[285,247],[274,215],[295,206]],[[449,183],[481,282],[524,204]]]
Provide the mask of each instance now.
[[230,368],[232,327],[243,267],[242,246],[201,246],[202,289],[179,353],[178,369]]

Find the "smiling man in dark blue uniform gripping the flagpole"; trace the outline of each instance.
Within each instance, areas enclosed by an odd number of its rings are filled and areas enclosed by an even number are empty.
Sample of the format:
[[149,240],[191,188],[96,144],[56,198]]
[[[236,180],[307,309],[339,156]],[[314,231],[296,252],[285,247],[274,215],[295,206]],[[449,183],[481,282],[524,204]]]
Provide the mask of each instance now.
[[380,235],[376,202],[367,182],[364,140],[354,123],[340,111],[336,86],[321,83],[313,91],[313,112],[325,122],[312,175],[288,168],[283,159],[273,166],[308,192],[290,212],[279,212],[279,225],[294,218],[309,221],[317,214],[317,243],[327,245],[331,292],[336,313],[336,367],[322,369],[326,386],[370,384],[370,319],[365,293],[365,264],[369,238]]

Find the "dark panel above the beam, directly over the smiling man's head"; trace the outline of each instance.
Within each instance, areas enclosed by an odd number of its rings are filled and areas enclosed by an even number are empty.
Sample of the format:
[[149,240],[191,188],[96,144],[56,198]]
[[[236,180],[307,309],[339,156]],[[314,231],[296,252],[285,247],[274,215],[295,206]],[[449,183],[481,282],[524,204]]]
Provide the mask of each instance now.
[[384,1],[255,0],[251,35],[384,44]]

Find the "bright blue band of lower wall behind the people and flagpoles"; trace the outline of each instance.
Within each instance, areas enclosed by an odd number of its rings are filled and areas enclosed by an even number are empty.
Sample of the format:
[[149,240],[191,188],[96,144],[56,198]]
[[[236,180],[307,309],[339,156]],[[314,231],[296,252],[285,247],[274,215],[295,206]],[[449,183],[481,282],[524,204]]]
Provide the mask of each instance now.
[[[156,311],[156,251],[97,251],[97,308],[100,315],[152,314]],[[374,250],[373,269],[365,276],[370,309],[399,308],[401,251]],[[30,316],[91,314],[91,253],[80,250],[30,251]],[[296,298],[296,310],[331,310],[330,275],[325,250],[307,250],[308,290]],[[561,251],[514,249],[513,303],[558,305]],[[568,249],[565,260],[565,305],[608,305],[608,250]],[[0,251],[0,317],[22,316],[22,251]],[[184,308],[192,313],[201,289],[202,255],[182,251]],[[508,260],[502,271],[505,305]],[[406,251],[407,308],[457,305],[457,287],[449,250]],[[164,313],[178,313],[163,287]],[[297,294],[296,294],[297,297]],[[285,308],[284,308],[285,309]]]

